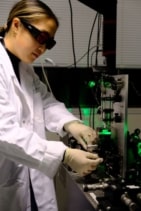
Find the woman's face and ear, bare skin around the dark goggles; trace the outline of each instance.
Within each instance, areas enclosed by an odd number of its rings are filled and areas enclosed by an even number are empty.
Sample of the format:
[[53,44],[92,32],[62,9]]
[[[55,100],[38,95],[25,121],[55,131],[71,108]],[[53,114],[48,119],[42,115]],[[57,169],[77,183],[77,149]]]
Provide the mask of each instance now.
[[[40,31],[48,32],[50,37],[55,36],[57,25],[53,19],[42,18],[30,24]],[[5,45],[21,61],[32,63],[46,51],[46,45],[40,44],[19,18],[13,19],[10,31],[5,36]]]

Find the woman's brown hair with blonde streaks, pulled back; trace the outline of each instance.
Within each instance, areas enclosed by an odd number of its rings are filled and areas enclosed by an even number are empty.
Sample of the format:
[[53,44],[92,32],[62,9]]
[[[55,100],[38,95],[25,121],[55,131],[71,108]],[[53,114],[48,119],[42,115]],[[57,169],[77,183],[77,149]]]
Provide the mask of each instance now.
[[0,36],[4,36],[5,33],[9,31],[14,17],[23,18],[28,22],[48,17],[56,22],[57,27],[59,26],[58,18],[45,3],[40,0],[21,0],[12,7],[7,19],[7,24],[0,27]]

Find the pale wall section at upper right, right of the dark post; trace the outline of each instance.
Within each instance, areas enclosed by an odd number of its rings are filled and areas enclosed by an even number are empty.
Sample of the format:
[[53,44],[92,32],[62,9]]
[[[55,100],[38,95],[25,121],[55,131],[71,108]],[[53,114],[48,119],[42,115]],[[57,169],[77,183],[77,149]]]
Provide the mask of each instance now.
[[116,67],[141,68],[141,1],[117,1]]

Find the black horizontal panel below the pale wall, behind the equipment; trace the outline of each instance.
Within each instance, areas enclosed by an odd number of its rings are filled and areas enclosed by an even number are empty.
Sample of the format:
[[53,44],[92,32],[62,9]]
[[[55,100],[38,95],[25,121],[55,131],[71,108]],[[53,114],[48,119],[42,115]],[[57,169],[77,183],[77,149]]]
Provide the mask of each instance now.
[[[41,67],[35,67],[35,71],[43,79]],[[88,86],[89,81],[98,81],[101,72],[93,72],[91,68],[45,68],[48,80],[55,97],[63,101],[67,107],[93,107],[100,100],[99,88]],[[137,69],[118,70],[118,74],[128,74],[128,107],[141,107],[141,81],[140,71]],[[106,72],[107,74],[108,72]],[[104,73],[105,74],[105,73]],[[111,71],[110,71],[111,74]],[[111,74],[112,75],[112,74]],[[115,75],[115,71],[113,71]]]

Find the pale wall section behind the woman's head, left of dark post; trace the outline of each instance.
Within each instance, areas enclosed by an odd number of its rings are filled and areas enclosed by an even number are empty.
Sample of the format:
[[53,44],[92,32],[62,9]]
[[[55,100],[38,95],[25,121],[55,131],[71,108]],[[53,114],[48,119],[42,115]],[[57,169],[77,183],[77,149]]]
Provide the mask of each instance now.
[[[0,25],[6,23],[9,10],[16,0],[0,1]],[[56,33],[57,45],[51,51],[36,60],[34,65],[48,65],[44,59],[49,57],[56,63],[57,66],[69,66],[74,63],[72,51],[72,35],[71,35],[71,14],[68,0],[43,0],[48,4],[59,18],[60,27]],[[88,50],[88,41],[91,27],[96,15],[96,11],[80,3],[77,0],[71,0],[73,11],[73,29],[74,29],[74,43],[76,60],[79,60]],[[102,36],[102,33],[101,33]],[[96,45],[97,37],[97,23],[93,32],[91,47]],[[101,37],[102,38],[102,37]],[[101,39],[102,45],[102,39]],[[95,49],[93,49],[95,50]],[[93,52],[93,50],[91,52]],[[95,57],[94,57],[95,58]],[[102,53],[99,54],[99,64],[103,64],[104,58]],[[85,56],[78,66],[87,66],[87,57]]]

